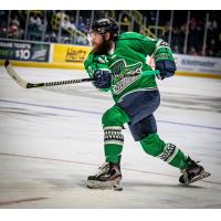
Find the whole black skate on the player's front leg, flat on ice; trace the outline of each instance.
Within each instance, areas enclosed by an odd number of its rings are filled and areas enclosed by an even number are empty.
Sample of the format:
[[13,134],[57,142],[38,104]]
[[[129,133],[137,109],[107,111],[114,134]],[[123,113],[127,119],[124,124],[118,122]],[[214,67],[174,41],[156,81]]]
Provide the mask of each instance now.
[[122,172],[119,164],[105,162],[98,168],[98,172],[87,178],[87,187],[91,189],[107,189],[123,190],[119,182]]

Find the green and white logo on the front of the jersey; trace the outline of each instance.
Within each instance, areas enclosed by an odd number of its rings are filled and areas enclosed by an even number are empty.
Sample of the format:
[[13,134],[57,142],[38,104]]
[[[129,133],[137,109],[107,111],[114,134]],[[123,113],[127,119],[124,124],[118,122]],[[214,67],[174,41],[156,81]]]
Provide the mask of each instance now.
[[109,67],[114,76],[113,93],[117,95],[139,77],[143,63],[137,62],[135,64],[127,65],[125,60],[120,59],[113,63]]

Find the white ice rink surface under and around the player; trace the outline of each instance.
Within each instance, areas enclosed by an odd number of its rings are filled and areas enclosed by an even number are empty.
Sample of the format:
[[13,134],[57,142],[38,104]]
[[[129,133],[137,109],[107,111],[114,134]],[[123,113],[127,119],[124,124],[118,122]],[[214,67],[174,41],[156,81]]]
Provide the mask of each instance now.
[[[15,67],[30,82],[84,71]],[[189,187],[180,171],[144,152],[126,126],[123,188],[87,189],[104,161],[102,114],[114,103],[91,83],[24,90],[0,67],[0,208],[221,208],[221,81],[158,82],[158,134],[210,171]]]

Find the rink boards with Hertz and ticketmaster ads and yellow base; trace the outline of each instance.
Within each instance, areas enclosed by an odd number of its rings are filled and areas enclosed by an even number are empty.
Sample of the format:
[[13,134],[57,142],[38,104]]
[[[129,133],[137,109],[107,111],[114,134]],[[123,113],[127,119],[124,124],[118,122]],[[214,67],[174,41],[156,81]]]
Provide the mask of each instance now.
[[[91,46],[0,39],[0,65],[84,70]],[[175,54],[177,75],[221,78],[221,59]]]

